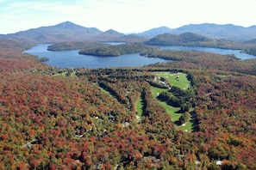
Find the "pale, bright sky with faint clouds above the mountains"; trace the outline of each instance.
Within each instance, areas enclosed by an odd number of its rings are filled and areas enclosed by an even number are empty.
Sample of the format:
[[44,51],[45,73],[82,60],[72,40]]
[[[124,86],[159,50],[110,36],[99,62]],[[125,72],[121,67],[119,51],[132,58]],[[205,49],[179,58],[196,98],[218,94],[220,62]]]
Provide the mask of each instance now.
[[188,24],[256,25],[256,0],[0,0],[0,34],[72,21],[141,33]]

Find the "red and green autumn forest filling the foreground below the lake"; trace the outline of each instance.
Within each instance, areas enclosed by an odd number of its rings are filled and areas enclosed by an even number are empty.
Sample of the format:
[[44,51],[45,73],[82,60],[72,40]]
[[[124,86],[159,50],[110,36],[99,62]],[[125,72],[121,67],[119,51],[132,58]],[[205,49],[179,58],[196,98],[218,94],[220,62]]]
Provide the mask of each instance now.
[[58,69],[31,46],[0,41],[0,169],[256,168],[255,59],[152,51],[175,61]]

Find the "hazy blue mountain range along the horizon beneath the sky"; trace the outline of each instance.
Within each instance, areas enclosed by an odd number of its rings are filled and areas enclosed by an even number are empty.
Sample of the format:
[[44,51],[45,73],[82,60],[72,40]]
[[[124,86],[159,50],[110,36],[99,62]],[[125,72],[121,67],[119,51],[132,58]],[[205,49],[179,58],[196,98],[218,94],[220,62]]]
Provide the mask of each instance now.
[[240,27],[232,24],[190,24],[183,27],[171,29],[169,27],[157,27],[143,33],[124,34],[113,29],[101,31],[96,27],[83,27],[66,21],[54,26],[38,27],[0,35],[3,39],[20,39],[34,43],[56,43],[65,41],[125,41],[141,42],[151,39],[159,34],[171,33],[197,33],[211,39],[228,39],[234,41],[247,41],[256,39],[256,26]]

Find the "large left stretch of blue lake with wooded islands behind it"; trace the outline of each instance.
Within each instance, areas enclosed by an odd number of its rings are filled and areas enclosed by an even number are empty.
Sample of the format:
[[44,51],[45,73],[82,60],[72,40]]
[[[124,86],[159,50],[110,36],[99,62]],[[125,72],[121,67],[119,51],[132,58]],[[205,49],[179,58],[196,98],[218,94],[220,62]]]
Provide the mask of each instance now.
[[148,64],[166,63],[172,60],[162,58],[146,58],[140,53],[124,54],[119,57],[97,57],[78,54],[78,50],[51,52],[47,46],[52,44],[39,44],[26,53],[33,54],[39,58],[49,58],[44,64],[59,68],[109,68],[109,67],[140,67]]

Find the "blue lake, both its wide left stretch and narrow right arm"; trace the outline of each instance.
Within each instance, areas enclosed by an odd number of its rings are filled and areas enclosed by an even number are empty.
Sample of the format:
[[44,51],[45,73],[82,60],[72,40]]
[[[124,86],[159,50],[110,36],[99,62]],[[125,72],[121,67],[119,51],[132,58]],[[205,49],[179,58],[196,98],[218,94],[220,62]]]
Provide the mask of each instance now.
[[[172,62],[162,58],[146,58],[140,56],[139,53],[125,54],[119,57],[97,57],[91,55],[78,54],[78,50],[51,52],[47,51],[47,46],[52,44],[39,44],[34,46],[26,53],[33,54],[39,58],[49,58],[45,64],[56,66],[59,68],[109,68],[109,67],[140,67],[148,64]],[[247,53],[241,53],[239,50],[227,50],[208,47],[196,46],[160,46],[161,50],[194,50],[203,52],[213,52],[218,54],[234,54],[242,60],[256,58]]]

